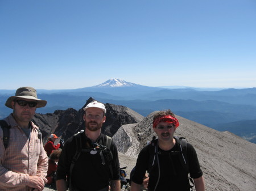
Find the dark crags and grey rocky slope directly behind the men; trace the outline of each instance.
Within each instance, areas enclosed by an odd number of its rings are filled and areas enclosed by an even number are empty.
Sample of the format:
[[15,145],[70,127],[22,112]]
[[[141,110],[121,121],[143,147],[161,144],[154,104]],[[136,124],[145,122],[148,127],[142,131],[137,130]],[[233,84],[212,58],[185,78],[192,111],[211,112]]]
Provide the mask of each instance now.
[[[86,104],[92,100],[90,97]],[[129,174],[136,163],[139,151],[156,135],[152,129],[154,112],[142,117],[121,105],[105,105],[107,113],[102,132],[113,137],[118,147],[121,167],[127,166]],[[67,139],[84,129],[82,114],[84,114],[82,109],[76,111],[69,108],[52,114],[36,114],[34,122],[40,126],[45,141],[51,133],[62,135]],[[204,172],[206,190],[255,190],[256,145],[254,143],[228,131],[217,131],[183,117],[176,117],[180,126],[176,129],[175,135],[185,137],[195,147]]]

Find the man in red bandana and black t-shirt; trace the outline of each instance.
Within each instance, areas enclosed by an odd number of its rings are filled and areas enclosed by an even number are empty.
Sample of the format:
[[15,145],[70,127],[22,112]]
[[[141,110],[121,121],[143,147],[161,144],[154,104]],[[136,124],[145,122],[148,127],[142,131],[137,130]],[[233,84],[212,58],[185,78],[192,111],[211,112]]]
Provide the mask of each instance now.
[[179,121],[168,109],[154,115],[153,129],[158,139],[139,153],[131,191],[141,188],[145,172],[149,173],[149,191],[189,191],[188,173],[195,182],[196,191],[204,191],[203,172],[200,169],[195,148],[185,139],[173,137]]

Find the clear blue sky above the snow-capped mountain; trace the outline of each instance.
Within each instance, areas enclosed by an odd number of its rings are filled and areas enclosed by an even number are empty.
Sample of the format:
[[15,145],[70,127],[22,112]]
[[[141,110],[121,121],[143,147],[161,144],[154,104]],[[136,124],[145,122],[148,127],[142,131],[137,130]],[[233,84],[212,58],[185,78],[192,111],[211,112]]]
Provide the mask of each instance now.
[[0,89],[256,87],[255,0],[0,0]]

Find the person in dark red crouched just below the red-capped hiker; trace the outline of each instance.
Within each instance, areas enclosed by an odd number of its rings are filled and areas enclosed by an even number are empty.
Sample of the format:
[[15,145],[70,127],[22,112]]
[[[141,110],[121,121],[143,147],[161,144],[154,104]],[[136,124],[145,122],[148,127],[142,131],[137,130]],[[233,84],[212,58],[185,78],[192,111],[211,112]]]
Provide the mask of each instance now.
[[49,155],[48,170],[47,170],[47,184],[51,185],[52,188],[56,188],[56,171],[57,163],[59,162],[61,149],[52,151]]

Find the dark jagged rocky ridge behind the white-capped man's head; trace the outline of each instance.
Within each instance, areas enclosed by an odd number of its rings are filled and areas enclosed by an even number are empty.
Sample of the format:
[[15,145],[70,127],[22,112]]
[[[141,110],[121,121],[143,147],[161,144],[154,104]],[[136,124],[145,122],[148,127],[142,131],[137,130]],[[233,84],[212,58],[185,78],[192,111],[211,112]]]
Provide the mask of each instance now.
[[[84,108],[93,100],[90,97]],[[102,126],[102,133],[112,137],[117,130],[124,124],[133,124],[141,121],[143,116],[122,105],[105,104],[106,107],[106,122]],[[57,136],[62,136],[67,140],[73,134],[85,128],[82,116],[83,109],[76,111],[69,108],[67,110],[57,110],[54,113],[38,114],[36,113],[32,121],[40,127],[43,134],[43,142],[47,141],[50,134],[55,133]]]

